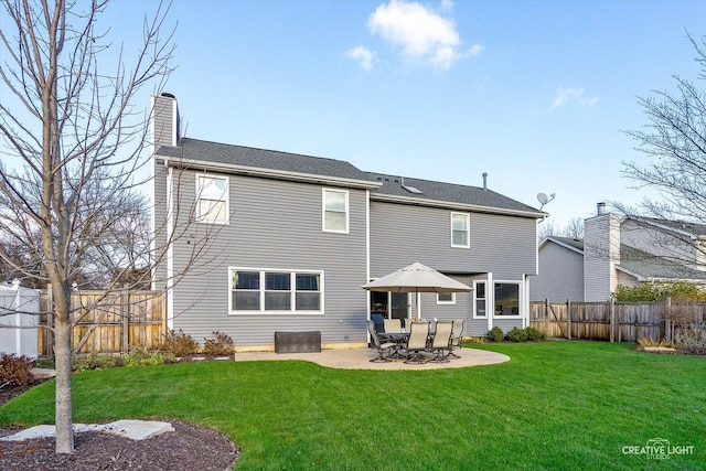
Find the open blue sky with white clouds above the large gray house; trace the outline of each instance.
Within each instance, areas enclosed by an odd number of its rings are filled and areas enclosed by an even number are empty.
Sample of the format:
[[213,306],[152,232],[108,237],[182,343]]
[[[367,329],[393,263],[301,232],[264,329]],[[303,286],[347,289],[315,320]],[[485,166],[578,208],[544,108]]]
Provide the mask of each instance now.
[[[153,1],[111,4],[129,42]],[[137,14],[140,13],[140,14]],[[175,0],[188,137],[482,185],[556,226],[638,203],[637,97],[696,78],[704,1]],[[139,31],[139,30],[137,30]],[[147,98],[146,98],[147,100]]]

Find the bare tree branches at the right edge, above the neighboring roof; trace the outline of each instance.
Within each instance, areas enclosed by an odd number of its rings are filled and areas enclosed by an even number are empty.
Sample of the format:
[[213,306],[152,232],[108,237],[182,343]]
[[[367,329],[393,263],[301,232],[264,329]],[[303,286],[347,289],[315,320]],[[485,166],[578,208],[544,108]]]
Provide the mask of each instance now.
[[[697,78],[706,79],[706,36],[697,41],[687,33],[687,38],[702,68]],[[704,254],[706,249],[692,239],[694,224],[706,224],[706,94],[687,78],[673,78],[676,92],[653,90],[639,98],[648,124],[642,130],[625,131],[648,159],[623,162],[623,174],[638,188],[656,190],[660,200],[645,199],[637,208],[614,205],[632,215],[634,224],[645,223],[653,232],[661,227],[664,234],[655,234],[653,244],[661,246],[663,255],[693,264],[694,251]],[[670,223],[655,225],[654,220]],[[684,247],[691,249],[685,251]]]

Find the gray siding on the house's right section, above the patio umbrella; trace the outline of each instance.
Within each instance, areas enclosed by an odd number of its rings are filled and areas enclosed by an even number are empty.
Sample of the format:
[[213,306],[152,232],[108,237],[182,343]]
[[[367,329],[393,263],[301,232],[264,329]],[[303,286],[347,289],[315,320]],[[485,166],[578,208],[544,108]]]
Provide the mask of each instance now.
[[470,213],[470,248],[459,248],[451,247],[451,212],[371,202],[371,276],[414,261],[447,274],[492,271],[505,280],[535,274],[535,220]]

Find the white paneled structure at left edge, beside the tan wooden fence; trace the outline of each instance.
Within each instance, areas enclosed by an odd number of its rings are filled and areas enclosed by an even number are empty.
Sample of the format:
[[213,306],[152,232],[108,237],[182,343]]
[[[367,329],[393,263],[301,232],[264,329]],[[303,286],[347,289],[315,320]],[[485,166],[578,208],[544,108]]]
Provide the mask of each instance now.
[[12,285],[0,283],[0,353],[38,357],[39,312],[38,290],[22,288],[19,280]]

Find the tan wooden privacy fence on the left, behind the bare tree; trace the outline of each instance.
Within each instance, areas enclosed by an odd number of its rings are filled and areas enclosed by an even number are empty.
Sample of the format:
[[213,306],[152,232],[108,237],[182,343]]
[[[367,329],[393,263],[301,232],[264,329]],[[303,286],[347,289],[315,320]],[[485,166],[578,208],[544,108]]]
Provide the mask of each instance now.
[[[41,295],[42,312],[50,312],[47,293]],[[161,291],[75,291],[71,298],[74,353],[128,353],[130,347],[153,349],[167,333],[167,302]],[[40,325],[52,325],[44,314]],[[49,329],[39,329],[39,354],[53,356]]]

